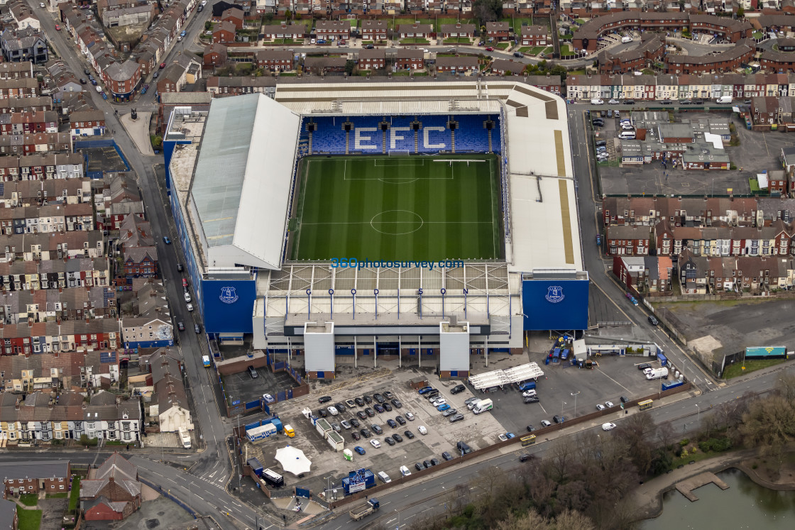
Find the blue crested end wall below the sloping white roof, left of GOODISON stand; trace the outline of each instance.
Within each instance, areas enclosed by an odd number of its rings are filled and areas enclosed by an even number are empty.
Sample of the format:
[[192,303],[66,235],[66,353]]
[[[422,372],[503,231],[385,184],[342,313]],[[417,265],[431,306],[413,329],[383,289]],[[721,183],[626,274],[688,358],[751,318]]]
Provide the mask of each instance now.
[[253,333],[252,311],[257,296],[256,280],[202,280],[196,304],[204,313],[210,335]]

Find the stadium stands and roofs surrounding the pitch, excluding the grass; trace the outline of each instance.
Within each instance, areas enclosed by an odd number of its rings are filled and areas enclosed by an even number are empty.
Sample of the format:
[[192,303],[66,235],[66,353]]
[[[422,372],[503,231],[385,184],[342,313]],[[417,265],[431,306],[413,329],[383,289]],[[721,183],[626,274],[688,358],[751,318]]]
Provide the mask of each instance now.
[[[518,353],[529,330],[588,327],[566,106],[521,81],[277,84],[177,107],[164,135],[169,199],[207,334],[304,355],[435,364]],[[503,260],[444,267],[289,261],[302,157],[460,155],[500,159]],[[426,361],[426,358],[429,361]]]

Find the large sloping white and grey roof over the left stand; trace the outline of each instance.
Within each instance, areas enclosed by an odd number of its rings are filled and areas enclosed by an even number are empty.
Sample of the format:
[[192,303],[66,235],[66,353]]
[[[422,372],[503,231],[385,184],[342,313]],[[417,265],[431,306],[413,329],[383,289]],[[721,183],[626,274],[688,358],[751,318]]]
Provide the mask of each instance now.
[[281,267],[300,125],[266,95],[212,100],[190,191],[207,266]]

